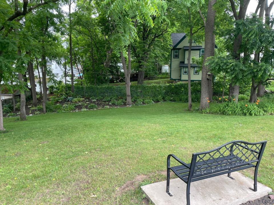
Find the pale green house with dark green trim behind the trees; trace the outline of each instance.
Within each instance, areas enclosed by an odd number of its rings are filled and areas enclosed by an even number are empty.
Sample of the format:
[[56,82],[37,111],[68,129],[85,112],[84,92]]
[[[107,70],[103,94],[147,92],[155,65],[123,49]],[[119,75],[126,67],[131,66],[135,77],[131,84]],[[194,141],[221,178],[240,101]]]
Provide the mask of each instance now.
[[[185,33],[172,33],[172,49],[170,52],[170,79],[188,81],[188,48],[189,40]],[[191,81],[201,81],[202,71],[198,65],[192,63],[192,57],[199,58],[204,55],[205,43],[196,44],[192,41],[191,48]]]

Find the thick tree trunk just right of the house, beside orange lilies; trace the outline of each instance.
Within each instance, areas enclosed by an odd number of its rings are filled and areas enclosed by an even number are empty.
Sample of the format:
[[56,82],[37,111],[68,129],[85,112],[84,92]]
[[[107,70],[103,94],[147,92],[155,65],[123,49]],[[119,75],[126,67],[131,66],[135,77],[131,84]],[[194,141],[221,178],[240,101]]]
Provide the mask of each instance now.
[[200,109],[203,110],[209,107],[209,83],[207,79],[207,73],[209,72],[208,66],[205,65],[206,59],[210,56],[214,56],[215,49],[215,34],[214,34],[214,22],[215,22],[215,10],[213,5],[216,3],[216,0],[208,1],[207,9],[207,18],[206,18],[206,27],[205,27],[205,55],[202,65],[202,80],[201,80],[201,101]]

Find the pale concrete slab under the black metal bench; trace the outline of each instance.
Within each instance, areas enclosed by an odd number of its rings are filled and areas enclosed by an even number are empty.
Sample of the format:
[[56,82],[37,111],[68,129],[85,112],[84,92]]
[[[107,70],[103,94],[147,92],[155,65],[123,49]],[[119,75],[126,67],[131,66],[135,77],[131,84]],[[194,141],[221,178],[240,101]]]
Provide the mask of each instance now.
[[[271,191],[271,188],[258,182],[257,192],[253,192],[253,179],[233,172],[230,179],[227,175],[221,175],[196,181],[190,185],[191,205],[239,205],[247,201],[261,198]],[[170,193],[166,193],[166,181],[141,186],[146,198],[155,205],[185,205],[186,183],[180,179],[170,180]]]

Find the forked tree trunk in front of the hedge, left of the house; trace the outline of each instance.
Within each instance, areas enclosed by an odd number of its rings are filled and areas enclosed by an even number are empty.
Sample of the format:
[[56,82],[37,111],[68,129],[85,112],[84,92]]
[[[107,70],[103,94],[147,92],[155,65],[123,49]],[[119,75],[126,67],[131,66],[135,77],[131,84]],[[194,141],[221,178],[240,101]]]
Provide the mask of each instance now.
[[120,52],[121,61],[122,61],[125,78],[126,78],[126,105],[132,105],[131,94],[130,94],[130,73],[131,73],[130,47],[131,45],[129,44],[128,45],[128,68],[126,67],[126,59],[124,57],[124,54],[123,52]]

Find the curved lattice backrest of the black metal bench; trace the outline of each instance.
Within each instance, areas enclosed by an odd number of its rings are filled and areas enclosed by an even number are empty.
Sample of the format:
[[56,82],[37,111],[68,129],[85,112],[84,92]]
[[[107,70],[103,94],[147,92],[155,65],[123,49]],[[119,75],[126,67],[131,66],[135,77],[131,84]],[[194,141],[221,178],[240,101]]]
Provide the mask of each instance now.
[[231,167],[256,165],[262,157],[267,141],[249,143],[232,141],[210,151],[192,155],[190,177],[229,170]]

